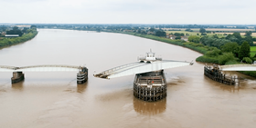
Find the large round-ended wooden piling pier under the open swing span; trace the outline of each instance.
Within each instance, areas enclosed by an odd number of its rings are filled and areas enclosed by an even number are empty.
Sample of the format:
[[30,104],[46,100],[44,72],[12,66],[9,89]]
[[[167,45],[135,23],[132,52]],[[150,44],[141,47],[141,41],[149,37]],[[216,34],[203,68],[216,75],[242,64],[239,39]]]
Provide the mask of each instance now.
[[156,102],[166,97],[164,71],[136,74],[133,84],[133,95],[147,102]]

